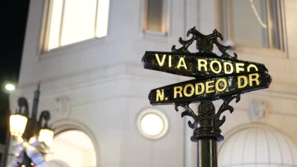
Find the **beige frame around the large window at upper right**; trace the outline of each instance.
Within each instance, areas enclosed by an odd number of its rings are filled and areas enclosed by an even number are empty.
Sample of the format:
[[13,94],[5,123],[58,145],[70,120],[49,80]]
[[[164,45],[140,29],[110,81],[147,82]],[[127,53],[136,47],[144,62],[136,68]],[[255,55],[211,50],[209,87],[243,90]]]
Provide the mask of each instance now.
[[[230,10],[232,8],[232,1],[233,0],[221,0],[219,3],[222,6],[221,8],[221,14],[218,17],[218,25],[220,25],[220,29],[223,29],[222,33],[225,34],[225,39],[226,40],[231,40],[234,42],[234,37],[233,37],[233,11]],[[243,52],[244,54],[248,54],[249,51],[251,51],[253,54],[257,53],[265,53],[265,56],[272,56],[272,57],[288,57],[288,49],[287,49],[287,39],[286,39],[286,24],[285,24],[285,13],[284,13],[284,2],[283,0],[277,0],[277,26],[278,26],[278,40],[279,40],[279,45],[280,49],[277,48],[271,48],[270,46],[272,45],[272,33],[273,30],[269,26],[272,22],[269,20],[271,19],[271,16],[269,15],[270,8],[266,7],[265,14],[267,16],[267,37],[268,37],[268,47],[254,47],[254,46],[247,46],[247,45],[239,45],[234,43],[234,48],[233,51],[237,52]],[[265,0],[264,4],[266,6],[271,5],[270,0]]]

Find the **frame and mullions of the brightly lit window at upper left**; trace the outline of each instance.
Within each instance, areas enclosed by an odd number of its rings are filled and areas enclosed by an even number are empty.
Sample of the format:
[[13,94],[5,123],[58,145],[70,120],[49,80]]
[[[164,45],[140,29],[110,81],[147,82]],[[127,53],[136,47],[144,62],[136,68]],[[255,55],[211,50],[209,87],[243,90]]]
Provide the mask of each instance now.
[[[63,46],[59,46],[53,49],[48,50],[47,49],[47,44],[48,44],[48,40],[49,40],[49,31],[48,31],[48,24],[49,24],[49,20],[51,18],[51,7],[52,7],[52,0],[44,0],[44,8],[43,8],[43,17],[42,17],[42,27],[41,27],[41,33],[40,33],[40,42],[39,42],[39,51],[38,51],[38,55],[47,55],[47,54],[52,54],[52,52],[56,52],[56,51],[60,51],[60,50],[64,50],[66,48],[71,48],[71,47],[75,47],[75,46],[79,46],[79,45],[85,45],[85,43],[89,43],[89,42],[94,42],[97,40],[105,40],[109,34],[109,25],[110,25],[110,7],[111,7],[111,1],[109,0],[109,5],[108,5],[108,14],[107,14],[107,33],[106,36],[104,37],[97,37],[96,36],[96,27],[97,27],[97,15],[98,15],[98,4],[99,4],[99,0],[97,0],[97,4],[96,4],[96,16],[95,16],[95,25],[94,25],[94,37],[90,38],[90,39],[86,39],[86,40],[82,40],[79,42],[74,42],[74,43],[70,43],[70,44],[66,44]],[[63,0],[63,12],[64,12],[64,0]],[[61,20],[63,21],[63,13],[62,13],[62,17]],[[60,27],[60,31],[62,30],[62,24],[63,22],[61,22],[61,27]],[[61,33],[60,33],[60,40],[61,40]]]

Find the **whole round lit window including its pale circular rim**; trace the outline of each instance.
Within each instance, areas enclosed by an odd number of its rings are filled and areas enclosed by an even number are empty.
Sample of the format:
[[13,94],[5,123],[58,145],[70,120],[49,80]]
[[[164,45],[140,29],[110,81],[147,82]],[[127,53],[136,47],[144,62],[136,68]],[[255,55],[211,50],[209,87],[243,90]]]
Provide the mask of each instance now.
[[145,109],[137,117],[137,127],[145,137],[158,139],[168,130],[166,116],[157,109]]

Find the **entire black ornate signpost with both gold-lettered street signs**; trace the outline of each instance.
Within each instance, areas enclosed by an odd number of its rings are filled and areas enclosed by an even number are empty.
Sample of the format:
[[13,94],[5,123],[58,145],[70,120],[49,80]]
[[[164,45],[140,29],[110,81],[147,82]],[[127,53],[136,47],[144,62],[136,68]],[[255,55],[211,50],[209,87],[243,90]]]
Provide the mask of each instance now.
[[[190,116],[193,122],[188,125],[193,129],[192,142],[197,142],[198,167],[217,167],[217,142],[223,141],[220,126],[226,121],[221,114],[233,107],[229,105],[235,99],[239,102],[243,93],[268,88],[272,82],[264,64],[237,60],[237,55],[227,53],[230,46],[224,46],[217,41],[223,36],[213,30],[210,35],[203,35],[195,27],[191,28],[183,45],[171,52],[146,51],[142,58],[144,68],[163,71],[171,74],[194,77],[193,80],[170,84],[153,89],[148,94],[152,105],[174,104],[184,108],[181,116]],[[188,47],[196,41],[198,52],[191,53]],[[217,46],[221,55],[212,52],[213,45]],[[221,99],[223,104],[215,112],[212,103]],[[189,107],[198,103],[198,115]]]

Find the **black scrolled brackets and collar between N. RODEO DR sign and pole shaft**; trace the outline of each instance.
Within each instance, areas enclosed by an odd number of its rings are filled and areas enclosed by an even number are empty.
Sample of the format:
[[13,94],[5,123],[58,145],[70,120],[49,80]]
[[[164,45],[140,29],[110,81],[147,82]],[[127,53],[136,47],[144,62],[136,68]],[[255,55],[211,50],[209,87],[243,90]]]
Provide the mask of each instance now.
[[229,110],[230,113],[233,112],[234,108],[229,105],[229,103],[233,101],[233,99],[236,99],[236,103],[239,102],[240,94],[222,97],[221,99],[223,100],[223,104],[216,113],[212,100],[201,101],[198,106],[198,115],[190,108],[190,103],[175,104],[176,111],[178,111],[178,106],[185,109],[185,111],[181,113],[182,117],[190,116],[194,120],[193,123],[191,121],[188,122],[188,125],[194,129],[191,141],[196,142],[205,137],[215,138],[217,141],[224,140],[224,137],[221,135],[220,126],[225,123],[226,117],[223,116],[222,119],[220,119],[221,114],[227,110]]

